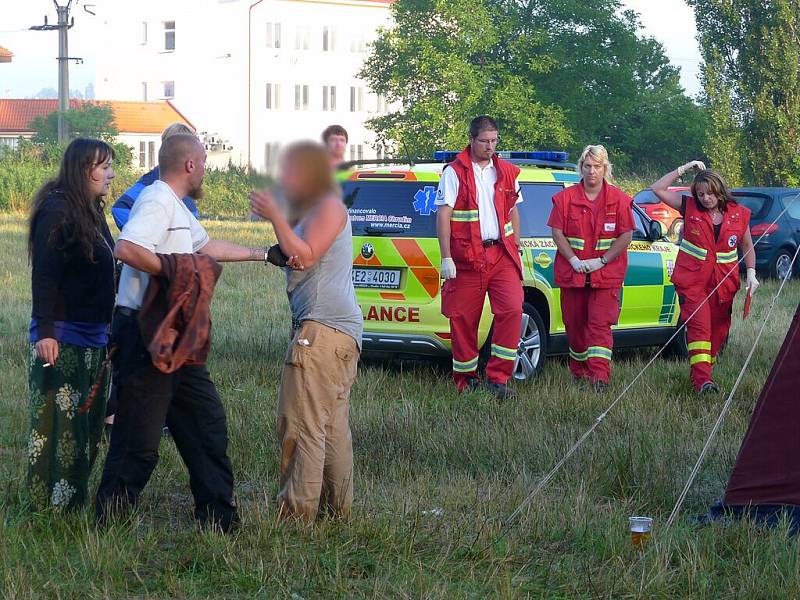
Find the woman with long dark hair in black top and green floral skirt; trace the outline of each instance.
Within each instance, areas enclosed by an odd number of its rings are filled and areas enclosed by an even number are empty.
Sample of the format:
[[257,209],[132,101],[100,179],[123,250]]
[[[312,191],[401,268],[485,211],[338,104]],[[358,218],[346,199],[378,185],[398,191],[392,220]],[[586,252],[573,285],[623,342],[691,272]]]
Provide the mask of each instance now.
[[74,140],[31,207],[28,489],[37,510],[86,502],[103,430],[107,376],[92,386],[114,308],[114,239],[103,211],[113,158],[105,142]]

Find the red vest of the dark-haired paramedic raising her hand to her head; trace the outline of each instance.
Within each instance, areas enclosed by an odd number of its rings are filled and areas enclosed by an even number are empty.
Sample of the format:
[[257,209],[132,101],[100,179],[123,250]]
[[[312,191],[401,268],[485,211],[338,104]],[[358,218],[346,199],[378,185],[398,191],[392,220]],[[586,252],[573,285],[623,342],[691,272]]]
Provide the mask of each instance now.
[[678,294],[705,294],[730,273],[717,294],[722,302],[733,300],[739,291],[738,248],[749,228],[750,210],[736,202],[728,202],[719,240],[715,240],[711,215],[701,210],[694,198],[688,197],[683,240],[672,272],[672,283]]

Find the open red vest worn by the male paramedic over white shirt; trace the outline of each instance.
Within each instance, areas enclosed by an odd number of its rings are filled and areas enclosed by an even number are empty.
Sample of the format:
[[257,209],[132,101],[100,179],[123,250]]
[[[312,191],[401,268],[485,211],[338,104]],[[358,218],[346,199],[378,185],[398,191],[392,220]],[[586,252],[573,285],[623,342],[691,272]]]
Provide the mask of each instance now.
[[[517,203],[516,181],[520,170],[510,162],[498,158],[497,155],[492,157],[492,162],[497,169],[494,208],[500,226],[500,241],[509,256],[513,258],[522,279],[522,263],[514,242],[515,232],[510,217],[511,209]],[[450,217],[450,253],[457,268],[485,271],[486,255],[481,237],[478,193],[475,188],[475,173],[472,170],[469,147],[446,168],[448,167],[458,176],[458,196],[453,207],[453,216]]]

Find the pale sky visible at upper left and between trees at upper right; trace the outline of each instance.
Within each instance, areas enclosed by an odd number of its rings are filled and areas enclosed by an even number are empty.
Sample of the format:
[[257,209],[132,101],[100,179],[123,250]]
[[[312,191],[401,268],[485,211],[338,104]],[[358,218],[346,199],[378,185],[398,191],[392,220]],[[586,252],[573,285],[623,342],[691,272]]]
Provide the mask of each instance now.
[[[84,62],[70,63],[70,88],[84,92],[94,82],[97,49],[92,39],[99,19],[84,11],[84,5],[91,6],[86,0],[77,4],[69,53]],[[623,0],[622,4],[640,13],[643,33],[664,44],[670,61],[681,69],[683,87],[690,95],[697,95],[700,53],[689,6],[684,0]],[[31,25],[41,24],[45,14],[50,23],[56,21],[52,0],[0,0],[0,46],[15,55],[13,62],[0,65],[0,98],[32,97],[43,88],[58,87],[58,32],[28,31]]]

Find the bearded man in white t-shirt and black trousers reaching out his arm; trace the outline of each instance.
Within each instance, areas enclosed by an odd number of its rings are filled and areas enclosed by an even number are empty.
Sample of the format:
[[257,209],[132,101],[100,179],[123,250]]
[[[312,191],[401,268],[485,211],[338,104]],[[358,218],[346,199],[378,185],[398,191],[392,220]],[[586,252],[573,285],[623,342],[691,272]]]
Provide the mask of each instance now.
[[192,135],[168,138],[158,155],[160,179],[133,206],[117,242],[124,263],[117,293],[112,344],[119,388],[111,444],[97,492],[98,519],[135,505],[158,462],[166,424],[189,471],[195,517],[228,531],[238,523],[233,470],[228,459],[225,411],[204,365],[171,374],[156,369],[139,330],[138,311],[150,277],[161,271],[157,254],[202,253],[221,262],[261,261],[265,248],[212,240],[181,198],[203,196],[206,153]]

